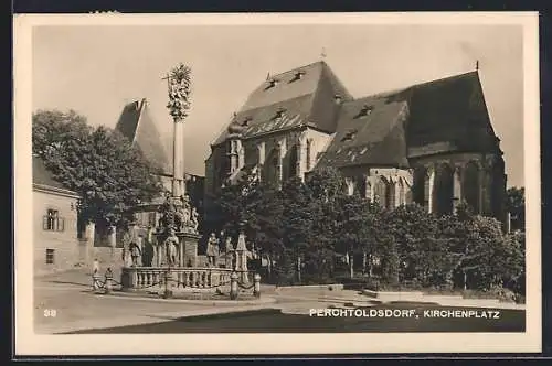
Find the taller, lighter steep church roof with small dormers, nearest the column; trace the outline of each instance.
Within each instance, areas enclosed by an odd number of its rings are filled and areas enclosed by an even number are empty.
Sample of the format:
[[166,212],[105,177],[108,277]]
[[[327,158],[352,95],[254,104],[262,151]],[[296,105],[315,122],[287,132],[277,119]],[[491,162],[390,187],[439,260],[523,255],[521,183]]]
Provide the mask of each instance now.
[[352,99],[325,62],[270,75],[253,90],[213,144],[233,133],[251,138],[300,125],[332,132],[339,110],[336,97]]

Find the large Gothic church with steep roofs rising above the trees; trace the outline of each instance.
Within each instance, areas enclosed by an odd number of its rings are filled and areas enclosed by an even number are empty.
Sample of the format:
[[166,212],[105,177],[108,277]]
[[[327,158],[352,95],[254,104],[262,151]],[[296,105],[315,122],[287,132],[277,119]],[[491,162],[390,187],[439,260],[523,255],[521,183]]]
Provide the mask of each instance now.
[[325,62],[269,76],[211,144],[205,205],[248,169],[279,184],[325,166],[385,207],[448,214],[465,201],[505,220],[505,161],[478,71],[361,98]]

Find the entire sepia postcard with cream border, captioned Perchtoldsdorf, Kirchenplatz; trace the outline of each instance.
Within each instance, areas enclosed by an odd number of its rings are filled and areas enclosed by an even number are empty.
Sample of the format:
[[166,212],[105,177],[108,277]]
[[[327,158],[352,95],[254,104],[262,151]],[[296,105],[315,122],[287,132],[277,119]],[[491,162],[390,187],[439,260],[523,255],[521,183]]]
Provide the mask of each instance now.
[[538,34],[15,15],[17,354],[540,352]]

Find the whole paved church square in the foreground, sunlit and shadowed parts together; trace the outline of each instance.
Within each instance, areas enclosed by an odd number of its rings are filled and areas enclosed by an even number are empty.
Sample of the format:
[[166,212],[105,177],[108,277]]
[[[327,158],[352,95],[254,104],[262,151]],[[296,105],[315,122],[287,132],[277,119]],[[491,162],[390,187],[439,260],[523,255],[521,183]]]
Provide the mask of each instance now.
[[[114,273],[118,278],[118,273]],[[523,311],[502,311],[502,321],[381,320],[309,317],[309,309],[367,306],[354,291],[264,287],[269,302],[183,301],[98,295],[91,292],[91,273],[77,270],[36,278],[34,329],[36,333],[181,333],[181,332],[520,332]],[[262,298],[263,300],[263,298]],[[373,306],[368,304],[368,306]],[[403,306],[413,308],[413,304]],[[427,304],[424,306],[428,306]],[[431,306],[431,305],[429,305]],[[437,305],[438,306],[438,305]],[[258,312],[263,310],[262,312]],[[224,313],[240,314],[224,315]],[[201,317],[198,315],[212,315]],[[189,321],[188,321],[189,319]]]

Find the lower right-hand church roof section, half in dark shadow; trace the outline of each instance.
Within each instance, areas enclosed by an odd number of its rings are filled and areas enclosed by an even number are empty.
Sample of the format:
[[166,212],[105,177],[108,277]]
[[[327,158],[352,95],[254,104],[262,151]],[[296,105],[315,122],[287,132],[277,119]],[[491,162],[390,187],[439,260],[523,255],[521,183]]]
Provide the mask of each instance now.
[[499,150],[477,72],[343,104],[317,168],[407,168],[423,155]]

